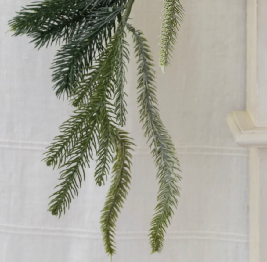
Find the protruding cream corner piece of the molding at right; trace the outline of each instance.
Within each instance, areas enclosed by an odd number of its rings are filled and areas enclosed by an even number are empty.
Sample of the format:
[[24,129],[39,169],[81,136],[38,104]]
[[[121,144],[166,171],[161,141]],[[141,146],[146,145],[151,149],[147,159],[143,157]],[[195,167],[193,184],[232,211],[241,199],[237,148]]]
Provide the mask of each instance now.
[[267,147],[267,127],[256,127],[246,110],[229,113],[226,121],[237,145]]

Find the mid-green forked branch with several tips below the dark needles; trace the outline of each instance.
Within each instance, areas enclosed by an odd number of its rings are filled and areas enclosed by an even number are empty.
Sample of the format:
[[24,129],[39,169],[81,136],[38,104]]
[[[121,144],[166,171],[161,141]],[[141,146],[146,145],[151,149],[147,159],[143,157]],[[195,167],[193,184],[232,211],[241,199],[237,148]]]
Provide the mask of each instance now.
[[[92,149],[97,152],[98,165],[96,168],[96,183],[101,185],[107,176],[109,164],[112,161],[114,134],[110,124],[115,121],[110,116],[114,107],[110,102],[114,93],[114,68],[120,61],[117,57],[117,47],[123,38],[123,31],[119,31],[112,38],[98,64],[95,72],[96,89],[85,104],[80,104],[74,116],[61,127],[61,135],[49,149],[45,161],[47,164],[60,165],[60,179],[63,180],[60,189],[52,196],[49,211],[55,215],[65,213],[69,207],[71,197],[78,194],[81,187],[84,168],[89,166],[92,159]],[[110,65],[103,67],[102,63]],[[90,82],[90,81],[89,81]],[[63,163],[63,164],[62,164]]]

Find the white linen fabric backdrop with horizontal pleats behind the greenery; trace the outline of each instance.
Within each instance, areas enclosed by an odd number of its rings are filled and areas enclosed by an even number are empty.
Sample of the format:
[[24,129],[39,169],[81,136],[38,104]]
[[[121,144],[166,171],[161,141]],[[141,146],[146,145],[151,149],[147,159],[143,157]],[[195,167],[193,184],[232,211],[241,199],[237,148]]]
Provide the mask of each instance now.
[[[51,88],[56,48],[37,51],[28,38],[5,33],[8,20],[29,1],[2,0],[0,10],[0,261],[110,261],[99,228],[109,183],[95,185],[94,163],[70,210],[60,219],[47,212],[59,172],[41,162],[42,153],[72,109]],[[185,20],[165,76],[157,66],[162,2],[136,0],[130,20],[153,51],[161,117],[181,163],[179,207],[164,251],[150,255],[147,235],[158,185],[139,123],[128,35],[126,129],[137,147],[113,261],[248,261],[248,153],[235,145],[226,124],[227,113],[245,108],[246,1],[183,5]]]

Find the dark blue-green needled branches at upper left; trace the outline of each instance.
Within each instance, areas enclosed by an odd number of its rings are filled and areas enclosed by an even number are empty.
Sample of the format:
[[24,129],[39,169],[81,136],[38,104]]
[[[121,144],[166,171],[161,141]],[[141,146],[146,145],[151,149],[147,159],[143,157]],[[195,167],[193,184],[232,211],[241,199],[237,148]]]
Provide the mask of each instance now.
[[70,95],[80,76],[105,49],[128,0],[45,0],[26,6],[9,21],[14,35],[35,47],[63,41],[52,64],[56,95]]

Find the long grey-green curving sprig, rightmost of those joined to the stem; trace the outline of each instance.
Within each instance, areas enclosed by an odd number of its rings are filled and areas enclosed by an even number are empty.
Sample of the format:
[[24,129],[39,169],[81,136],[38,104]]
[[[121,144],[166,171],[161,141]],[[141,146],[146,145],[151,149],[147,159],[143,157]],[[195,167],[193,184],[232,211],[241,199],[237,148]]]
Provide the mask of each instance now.
[[140,121],[143,123],[145,136],[150,142],[151,153],[158,167],[159,192],[157,206],[151,221],[150,245],[152,252],[160,252],[163,248],[165,228],[170,223],[173,208],[177,207],[179,187],[179,161],[175,153],[175,147],[164,127],[157,109],[155,71],[153,59],[146,38],[141,31],[127,25],[133,33],[135,42],[135,54],[138,58],[138,104],[140,109]]

